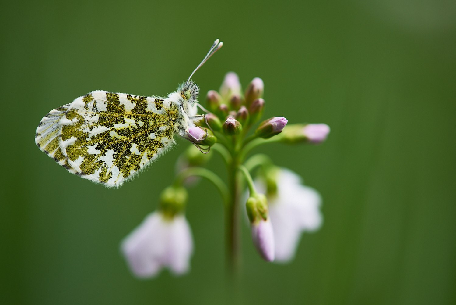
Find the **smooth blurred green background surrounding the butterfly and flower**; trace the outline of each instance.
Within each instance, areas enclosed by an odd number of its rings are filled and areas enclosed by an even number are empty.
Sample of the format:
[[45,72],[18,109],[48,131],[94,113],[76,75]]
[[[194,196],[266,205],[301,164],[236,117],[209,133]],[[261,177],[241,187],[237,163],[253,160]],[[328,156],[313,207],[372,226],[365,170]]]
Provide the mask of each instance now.
[[0,303],[228,304],[206,181],[187,208],[191,273],[140,281],[119,254],[185,142],[120,189],[34,143],[49,110],[89,91],[167,95],[216,38],[200,100],[236,71],[264,80],[265,117],[332,128],[320,146],[258,150],[321,193],[325,223],[288,265],[262,261],[243,226],[238,304],[456,303],[456,2],[4,1],[0,24]]

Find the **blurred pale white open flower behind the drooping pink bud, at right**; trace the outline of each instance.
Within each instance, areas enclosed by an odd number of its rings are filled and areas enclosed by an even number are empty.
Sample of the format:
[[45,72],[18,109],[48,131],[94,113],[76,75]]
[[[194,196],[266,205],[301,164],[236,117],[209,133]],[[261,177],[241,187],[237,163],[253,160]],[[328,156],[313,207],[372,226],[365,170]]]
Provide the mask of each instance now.
[[[301,177],[289,169],[279,168],[275,177],[276,192],[268,194],[275,261],[288,262],[295,256],[301,233],[321,226],[321,197],[315,189],[301,184]],[[263,180],[255,179],[255,186],[259,192],[266,191]]]

